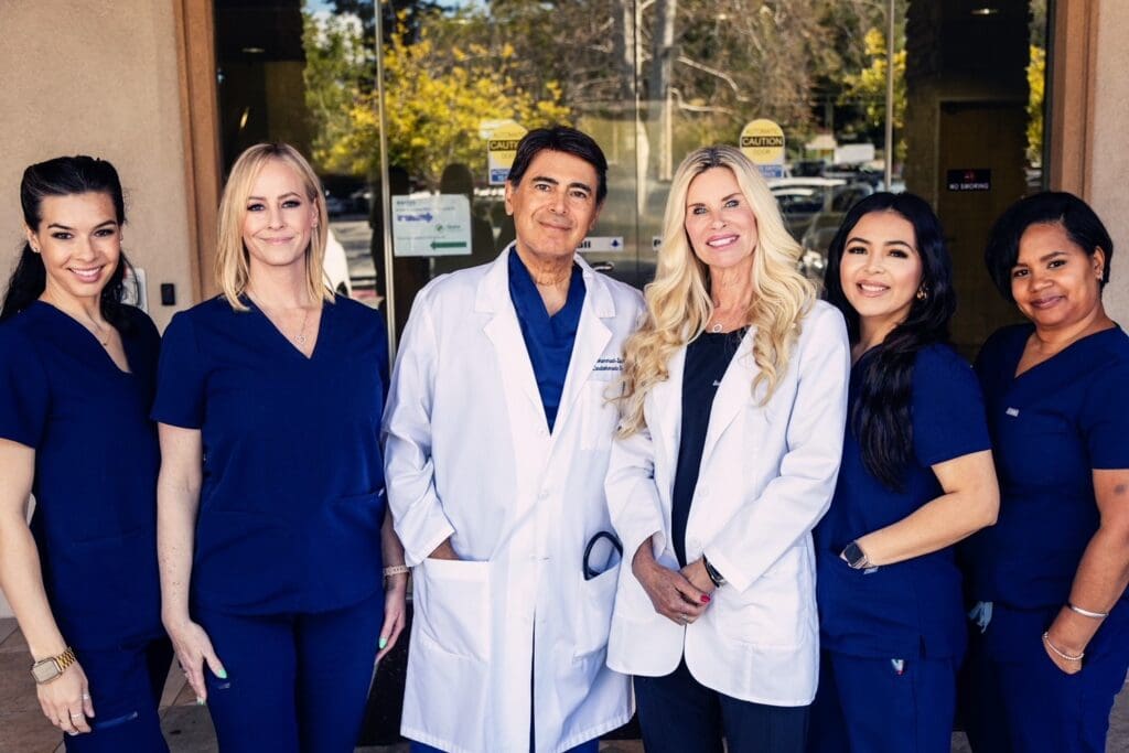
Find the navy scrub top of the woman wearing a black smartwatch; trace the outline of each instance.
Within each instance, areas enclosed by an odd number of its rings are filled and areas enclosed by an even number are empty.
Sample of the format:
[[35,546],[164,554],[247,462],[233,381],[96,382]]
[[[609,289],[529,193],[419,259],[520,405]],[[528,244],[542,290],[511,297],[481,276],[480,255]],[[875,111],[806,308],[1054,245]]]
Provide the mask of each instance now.
[[[858,402],[863,368],[875,352],[851,368],[848,415]],[[959,658],[964,653],[964,601],[953,548],[869,573],[839,557],[856,539],[943,494],[931,466],[990,448],[975,374],[947,345],[918,352],[910,410],[913,453],[902,492],[867,471],[848,422],[831,508],[813,532],[820,639],[832,651],[875,658]]]

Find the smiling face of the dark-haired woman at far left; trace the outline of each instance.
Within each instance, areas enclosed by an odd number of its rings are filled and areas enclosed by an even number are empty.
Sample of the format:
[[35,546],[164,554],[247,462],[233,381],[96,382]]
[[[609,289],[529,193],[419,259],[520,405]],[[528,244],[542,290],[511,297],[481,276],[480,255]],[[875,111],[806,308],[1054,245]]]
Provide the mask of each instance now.
[[44,296],[97,300],[122,255],[121,226],[110,194],[45,196],[40,212],[40,226],[26,234],[43,256]]

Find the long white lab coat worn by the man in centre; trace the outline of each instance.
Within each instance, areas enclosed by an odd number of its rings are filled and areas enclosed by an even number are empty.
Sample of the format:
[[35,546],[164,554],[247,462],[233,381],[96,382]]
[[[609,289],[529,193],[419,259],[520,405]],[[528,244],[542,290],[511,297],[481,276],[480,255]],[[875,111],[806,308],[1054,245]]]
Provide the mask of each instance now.
[[[594,272],[550,434],[509,295],[510,249],[415,299],[385,413],[385,475],[414,566],[402,732],[444,751],[563,751],[625,724],[630,678],[606,667],[619,567],[584,550],[611,531],[604,478],[623,341],[641,296]],[[447,536],[461,561],[427,555]]]

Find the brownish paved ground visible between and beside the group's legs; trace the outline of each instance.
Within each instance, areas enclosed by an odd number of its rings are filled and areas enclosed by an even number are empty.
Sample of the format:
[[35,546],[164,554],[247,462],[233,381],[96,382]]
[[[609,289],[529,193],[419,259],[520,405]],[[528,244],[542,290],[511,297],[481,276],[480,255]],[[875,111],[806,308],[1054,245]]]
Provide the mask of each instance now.
[[[0,620],[0,752],[63,753],[60,733],[43,717],[30,674],[24,637],[11,619]],[[169,673],[161,698],[161,726],[172,753],[218,753],[208,709],[180,672]],[[638,741],[602,743],[602,753],[642,753]],[[953,753],[969,750],[964,735],[953,735]],[[1110,720],[1108,751],[1129,751],[1129,693],[1121,693]],[[408,753],[408,744],[358,747],[358,753]]]

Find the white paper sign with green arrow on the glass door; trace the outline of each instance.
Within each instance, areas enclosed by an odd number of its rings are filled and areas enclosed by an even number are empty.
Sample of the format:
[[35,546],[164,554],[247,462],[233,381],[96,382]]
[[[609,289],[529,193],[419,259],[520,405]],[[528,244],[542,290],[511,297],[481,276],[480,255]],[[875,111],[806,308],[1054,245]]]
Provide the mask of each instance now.
[[470,254],[470,200],[461,193],[393,196],[392,247],[396,256]]

